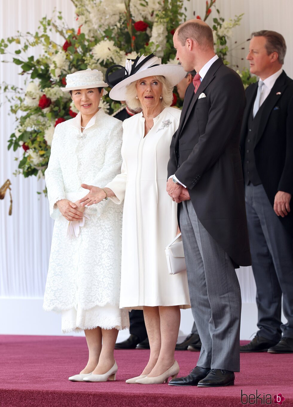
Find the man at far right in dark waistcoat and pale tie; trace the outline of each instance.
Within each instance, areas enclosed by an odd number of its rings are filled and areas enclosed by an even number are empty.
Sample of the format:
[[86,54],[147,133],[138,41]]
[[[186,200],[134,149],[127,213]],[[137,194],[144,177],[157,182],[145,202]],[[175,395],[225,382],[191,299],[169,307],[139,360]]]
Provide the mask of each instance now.
[[252,34],[247,59],[260,80],[246,90],[241,158],[259,330],[241,352],[293,352],[293,81],[282,70],[285,53],[279,33]]

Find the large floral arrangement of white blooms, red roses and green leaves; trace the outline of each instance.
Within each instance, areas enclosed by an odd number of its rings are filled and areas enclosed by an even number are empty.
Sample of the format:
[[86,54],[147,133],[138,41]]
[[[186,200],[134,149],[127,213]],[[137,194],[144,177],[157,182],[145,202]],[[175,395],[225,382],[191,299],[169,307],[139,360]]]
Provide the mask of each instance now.
[[[87,68],[105,74],[113,64],[124,66],[125,59],[154,52],[163,63],[177,63],[173,48],[175,28],[186,20],[183,0],[71,0],[76,8],[77,28],[68,27],[61,13],[40,21],[38,31],[17,33],[0,40],[0,54],[12,54],[12,61],[26,75],[26,89],[3,83],[10,111],[16,116],[15,131],[8,140],[8,149],[24,150],[19,170],[24,177],[43,177],[50,158],[50,146],[58,123],[77,115],[70,94],[61,91],[66,75]],[[216,0],[206,2],[206,20]],[[220,14],[219,10],[216,12]],[[240,24],[242,15],[234,20],[214,18],[216,53],[227,63],[227,38]],[[200,18],[200,16],[197,16]],[[59,33],[64,42],[52,41],[50,33]],[[17,44],[14,53],[10,44]],[[42,46],[42,55],[27,57],[35,46]],[[245,76],[246,75],[246,76]],[[251,78],[243,72],[246,81]],[[11,96],[9,96],[11,95]],[[180,105],[176,94],[173,105]],[[113,114],[120,103],[105,96],[100,106]],[[45,192],[45,191],[44,191]]]

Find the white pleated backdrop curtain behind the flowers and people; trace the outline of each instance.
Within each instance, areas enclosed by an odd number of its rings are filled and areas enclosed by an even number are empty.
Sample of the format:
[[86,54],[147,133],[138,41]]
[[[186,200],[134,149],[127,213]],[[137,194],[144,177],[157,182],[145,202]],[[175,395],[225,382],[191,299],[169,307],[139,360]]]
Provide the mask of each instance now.
[[[139,1],[139,0],[132,0]],[[188,18],[195,15],[203,16],[204,0],[186,2]],[[216,0],[217,7],[224,18],[245,13],[240,27],[234,30],[231,41],[240,44],[249,38],[251,31],[269,28],[282,33],[288,45],[288,55],[285,59],[285,70],[292,77],[293,67],[293,33],[291,30],[291,15],[293,4],[291,0]],[[0,2],[0,37],[16,34],[17,30],[35,32],[38,21],[47,15],[52,15],[53,9],[62,11],[69,26],[76,26],[74,6],[70,0],[10,0]],[[212,12],[215,15],[215,12]],[[213,16],[212,15],[212,16]],[[211,17],[212,17],[211,16]],[[212,22],[211,17],[208,21]],[[289,20],[290,19],[290,20]],[[61,37],[52,35],[52,39],[60,44]],[[247,43],[245,44],[247,48]],[[246,51],[245,51],[246,52]],[[236,47],[229,56],[230,61],[240,67],[245,65],[241,57],[245,52]],[[40,50],[33,49],[37,56]],[[31,55],[31,51],[29,52]],[[28,55],[29,56],[29,55]],[[9,60],[12,56],[4,56]],[[3,59],[3,56],[2,56]],[[24,77],[18,75],[19,67],[10,63],[0,64],[0,81],[24,86]],[[14,131],[14,118],[9,116],[9,105],[5,95],[0,95],[2,106],[0,110],[0,185],[9,178],[12,182],[13,214],[8,216],[9,196],[0,201],[0,298],[22,297],[41,298],[44,292],[50,242],[53,223],[48,214],[48,203],[37,191],[44,189],[44,181],[35,177],[24,179],[14,177],[22,151],[7,151],[7,139]],[[241,285],[243,302],[255,301],[255,283],[250,267],[237,271]]]

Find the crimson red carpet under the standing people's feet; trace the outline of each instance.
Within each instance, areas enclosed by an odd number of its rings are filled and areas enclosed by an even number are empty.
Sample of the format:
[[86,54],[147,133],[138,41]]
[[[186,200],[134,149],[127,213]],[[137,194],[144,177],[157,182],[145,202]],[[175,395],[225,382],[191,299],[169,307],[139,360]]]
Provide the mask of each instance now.
[[[0,406],[234,407],[256,402],[278,406],[273,396],[282,393],[282,405],[293,407],[293,354],[241,354],[241,373],[235,374],[235,385],[230,387],[126,384],[126,379],[141,373],[148,354],[147,350],[116,350],[116,382],[72,383],[68,376],[79,373],[87,359],[84,338],[2,335]],[[198,352],[176,352],[180,376],[188,374],[198,356]],[[251,394],[250,400],[244,394]]]

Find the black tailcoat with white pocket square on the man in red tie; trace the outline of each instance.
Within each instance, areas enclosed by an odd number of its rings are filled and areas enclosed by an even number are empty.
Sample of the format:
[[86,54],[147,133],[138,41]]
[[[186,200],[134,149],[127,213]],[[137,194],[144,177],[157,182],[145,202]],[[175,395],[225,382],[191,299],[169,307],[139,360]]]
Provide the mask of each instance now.
[[[217,59],[197,93],[185,94],[170,147],[168,177],[186,185],[203,227],[235,268],[251,265],[240,157],[245,92],[240,76]],[[206,97],[199,98],[204,93]],[[178,208],[181,204],[178,205]]]

